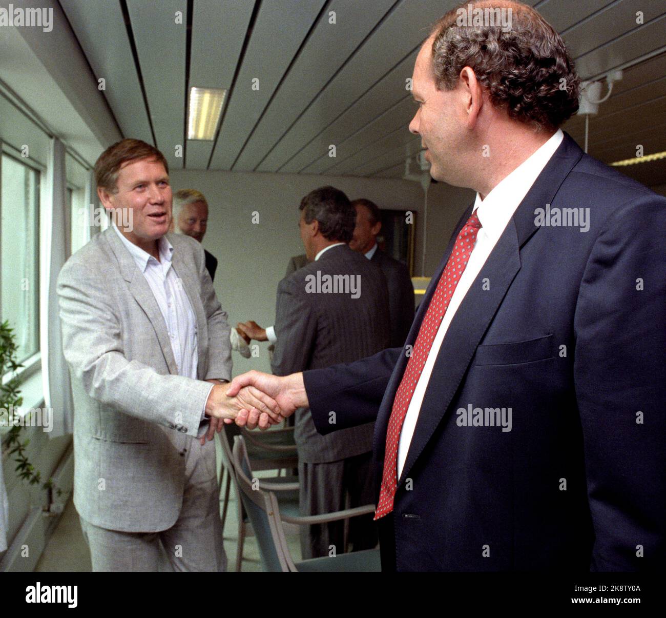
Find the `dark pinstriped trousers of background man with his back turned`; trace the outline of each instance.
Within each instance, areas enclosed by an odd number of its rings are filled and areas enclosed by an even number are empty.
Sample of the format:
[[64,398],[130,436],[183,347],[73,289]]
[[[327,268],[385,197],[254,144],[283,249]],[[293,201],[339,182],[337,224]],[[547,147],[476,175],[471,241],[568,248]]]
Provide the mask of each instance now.
[[[320,515],[374,503],[372,453],[331,463],[298,462],[301,515]],[[347,498],[349,501],[347,502]],[[378,530],[373,515],[349,520],[348,541],[352,551],[373,549]],[[303,559],[344,553],[344,521],[300,527]]]

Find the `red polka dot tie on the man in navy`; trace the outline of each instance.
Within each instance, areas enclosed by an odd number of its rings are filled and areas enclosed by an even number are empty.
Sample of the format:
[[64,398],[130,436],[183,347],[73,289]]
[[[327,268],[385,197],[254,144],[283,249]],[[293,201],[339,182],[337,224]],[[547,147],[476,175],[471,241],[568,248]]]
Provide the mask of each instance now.
[[414,395],[414,389],[421,376],[428,353],[435,340],[437,331],[440,328],[444,314],[449,306],[451,297],[456,291],[456,286],[462,276],[465,267],[470,259],[476,235],[481,229],[481,222],[476,216],[476,211],[467,220],[467,223],[460,230],[456,245],[446,263],[446,268],[440,281],[437,284],[435,293],[432,295],[428,311],[421,323],[421,327],[414,343],[412,355],[407,362],[405,373],[396,391],[396,398],[393,401],[391,417],[388,421],[388,431],[386,432],[386,453],[384,455],[384,473],[382,474],[382,489],[379,495],[379,503],[375,511],[375,519],[380,519],[388,515],[393,510],[393,500],[396,496],[398,487],[398,443],[400,442],[400,431],[404,423],[407,410]]

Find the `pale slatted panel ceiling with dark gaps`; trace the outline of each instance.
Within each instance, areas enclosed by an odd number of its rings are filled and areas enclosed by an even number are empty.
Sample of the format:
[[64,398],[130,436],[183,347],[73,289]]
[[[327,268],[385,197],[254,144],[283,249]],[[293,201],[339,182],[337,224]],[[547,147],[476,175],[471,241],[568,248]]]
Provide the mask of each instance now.
[[[664,0],[527,3],[561,33],[583,79],[665,45]],[[405,157],[420,149],[407,129],[415,108],[406,79],[429,25],[457,2],[60,4],[93,73],[106,81],[104,94],[123,134],[157,143],[171,167],[402,177]],[[191,86],[228,91],[214,142],[185,139]],[[645,154],[666,150],[665,111],[661,53],[627,69],[591,118],[590,153],[610,162],[634,157],[638,144]],[[581,117],[565,129],[583,142]],[[621,170],[649,185],[666,183],[665,161]]]

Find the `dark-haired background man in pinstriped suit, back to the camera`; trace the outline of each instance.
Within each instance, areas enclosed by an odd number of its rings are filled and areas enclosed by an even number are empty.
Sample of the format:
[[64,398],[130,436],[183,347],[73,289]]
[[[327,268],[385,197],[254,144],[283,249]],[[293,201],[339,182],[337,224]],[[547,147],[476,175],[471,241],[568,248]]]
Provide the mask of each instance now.
[[[376,353],[388,345],[388,291],[378,267],[354,253],[356,213],[347,196],[322,187],[300,204],[300,236],[308,265],[280,281],[276,305],[277,343],[271,366],[276,375],[329,367]],[[348,289],[326,289],[328,277],[348,281]],[[318,283],[320,282],[320,283]],[[358,286],[358,287],[356,287]],[[342,289],[341,289],[342,288]],[[330,422],[335,422],[332,411]],[[308,409],[296,412],[300,509],[304,515],[372,503],[370,451],[374,423],[320,435]],[[354,550],[377,543],[372,515],[350,521]],[[302,529],[304,557],[328,555],[343,548],[344,525]]]

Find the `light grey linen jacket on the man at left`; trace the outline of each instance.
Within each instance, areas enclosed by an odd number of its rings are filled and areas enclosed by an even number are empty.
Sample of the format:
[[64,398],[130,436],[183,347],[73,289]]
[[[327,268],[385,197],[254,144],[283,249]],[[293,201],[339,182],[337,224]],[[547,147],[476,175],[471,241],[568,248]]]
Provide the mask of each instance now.
[[[204,251],[182,234],[168,240],[196,316],[198,378],[230,379],[229,327]],[[74,395],[77,511],[104,528],[165,530],[180,513],[184,449],[210,384],[177,375],[157,301],[113,229],[67,261],[57,289]],[[208,444],[202,465],[214,467]]]

